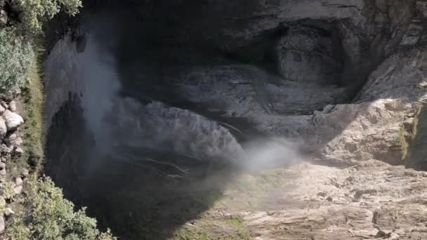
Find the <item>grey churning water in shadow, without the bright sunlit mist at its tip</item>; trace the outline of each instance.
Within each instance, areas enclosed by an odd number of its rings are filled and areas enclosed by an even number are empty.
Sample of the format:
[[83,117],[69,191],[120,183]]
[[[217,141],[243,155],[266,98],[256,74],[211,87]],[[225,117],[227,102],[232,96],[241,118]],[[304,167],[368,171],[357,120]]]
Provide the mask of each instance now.
[[88,34],[83,53],[77,53],[67,38],[55,46],[48,60],[53,74],[46,85],[46,106],[58,108],[69,93],[77,93],[96,142],[94,151],[117,154],[117,149],[123,152],[130,147],[143,149],[139,154],[168,152],[201,161],[237,160],[242,147],[216,121],[162,102],[143,104],[119,96],[117,62],[108,50]]

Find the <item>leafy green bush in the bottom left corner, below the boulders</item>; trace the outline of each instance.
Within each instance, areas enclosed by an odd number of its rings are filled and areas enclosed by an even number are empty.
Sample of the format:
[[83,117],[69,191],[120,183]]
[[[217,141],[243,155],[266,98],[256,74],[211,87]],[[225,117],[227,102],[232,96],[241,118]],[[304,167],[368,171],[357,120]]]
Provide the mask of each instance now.
[[29,222],[16,220],[12,223],[8,237],[44,240],[107,240],[109,232],[96,229],[96,220],[86,216],[85,208],[74,212],[74,204],[63,197],[63,192],[55,187],[52,180],[36,180],[29,183],[29,196],[25,215]]

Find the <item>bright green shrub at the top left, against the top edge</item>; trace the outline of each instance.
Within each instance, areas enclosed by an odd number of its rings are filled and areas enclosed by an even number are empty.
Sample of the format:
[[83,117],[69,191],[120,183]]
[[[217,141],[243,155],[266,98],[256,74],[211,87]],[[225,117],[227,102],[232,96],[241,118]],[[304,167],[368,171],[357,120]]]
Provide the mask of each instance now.
[[69,15],[79,13],[81,0],[11,0],[21,11],[20,25],[25,34],[39,34],[46,20],[53,18],[60,10]]

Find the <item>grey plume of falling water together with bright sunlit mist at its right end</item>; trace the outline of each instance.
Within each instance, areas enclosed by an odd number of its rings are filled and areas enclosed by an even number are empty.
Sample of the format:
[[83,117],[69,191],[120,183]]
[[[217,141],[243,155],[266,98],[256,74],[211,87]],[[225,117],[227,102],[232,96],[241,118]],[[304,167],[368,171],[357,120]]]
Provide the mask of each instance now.
[[[102,164],[105,157],[127,163],[135,161],[135,164],[164,163],[168,159],[161,161],[157,157],[164,158],[167,154],[173,159],[217,161],[256,171],[289,166],[302,159],[295,142],[275,137],[239,142],[226,126],[214,119],[164,102],[146,103],[121,95],[117,58],[120,44],[117,35],[121,32],[117,22],[105,16],[86,20],[81,29],[86,32],[86,46],[73,59],[84,119],[95,140],[91,164]],[[144,57],[138,55],[138,64],[143,64],[139,58]],[[134,80],[143,81],[141,94],[153,88],[152,79],[147,79],[143,72],[146,68],[140,66]],[[134,69],[129,66],[129,71]]]

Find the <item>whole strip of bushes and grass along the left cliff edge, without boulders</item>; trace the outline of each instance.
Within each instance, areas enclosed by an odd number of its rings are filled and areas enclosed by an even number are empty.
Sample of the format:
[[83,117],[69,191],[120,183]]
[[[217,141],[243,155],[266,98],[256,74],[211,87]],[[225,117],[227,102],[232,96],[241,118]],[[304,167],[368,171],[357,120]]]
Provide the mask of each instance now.
[[49,178],[39,178],[43,159],[42,29],[60,11],[75,15],[79,7],[80,0],[0,1],[0,10],[8,14],[0,22],[0,92],[22,90],[22,114],[26,121],[24,154],[9,161],[8,168],[31,169],[23,194],[13,193],[11,180],[16,176],[8,176],[2,184],[0,214],[6,213],[7,208],[15,213],[8,215],[1,239],[112,239],[110,232],[96,228],[96,220],[86,216],[84,208],[74,211],[72,202],[64,199],[62,190]]

